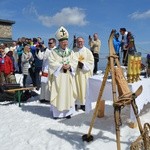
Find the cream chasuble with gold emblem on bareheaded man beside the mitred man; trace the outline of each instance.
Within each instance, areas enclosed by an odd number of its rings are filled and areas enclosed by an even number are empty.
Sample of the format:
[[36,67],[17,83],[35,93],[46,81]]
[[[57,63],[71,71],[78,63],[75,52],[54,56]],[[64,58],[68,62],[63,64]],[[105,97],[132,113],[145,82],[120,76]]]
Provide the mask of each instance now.
[[83,68],[77,68],[75,75],[78,93],[77,100],[79,100],[81,105],[85,105],[87,80],[93,75],[94,58],[92,52],[86,47],[82,49],[75,48],[74,52],[78,61],[83,63]]

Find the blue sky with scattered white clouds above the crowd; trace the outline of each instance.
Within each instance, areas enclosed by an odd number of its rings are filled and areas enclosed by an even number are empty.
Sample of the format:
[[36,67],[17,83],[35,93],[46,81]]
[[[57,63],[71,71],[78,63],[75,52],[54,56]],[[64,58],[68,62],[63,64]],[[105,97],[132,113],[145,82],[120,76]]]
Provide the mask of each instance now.
[[73,35],[84,37],[97,32],[101,52],[108,53],[112,29],[125,27],[135,37],[137,50],[150,53],[150,0],[0,0],[0,19],[13,20],[13,39],[55,37],[60,25]]

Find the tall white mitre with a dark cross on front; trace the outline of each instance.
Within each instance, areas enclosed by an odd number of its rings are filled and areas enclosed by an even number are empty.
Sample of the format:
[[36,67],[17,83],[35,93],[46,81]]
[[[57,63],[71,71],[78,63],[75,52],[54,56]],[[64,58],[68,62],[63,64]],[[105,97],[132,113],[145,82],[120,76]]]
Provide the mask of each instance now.
[[57,31],[56,31],[56,39],[58,41],[63,41],[63,40],[68,40],[69,38],[69,33],[68,31],[63,27],[61,26]]

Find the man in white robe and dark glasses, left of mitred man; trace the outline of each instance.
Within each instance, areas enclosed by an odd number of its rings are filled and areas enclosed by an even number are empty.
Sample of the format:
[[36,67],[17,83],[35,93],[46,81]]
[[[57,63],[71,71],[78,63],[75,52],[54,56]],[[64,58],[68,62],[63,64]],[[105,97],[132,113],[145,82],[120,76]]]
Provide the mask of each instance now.
[[36,55],[40,60],[43,60],[42,64],[42,72],[41,72],[41,92],[40,92],[40,102],[41,103],[49,103],[50,102],[50,88],[49,84],[50,81],[48,81],[48,69],[49,69],[49,62],[48,57],[50,56],[50,52],[56,48],[56,39],[50,38],[48,40],[49,48],[45,47],[45,45],[42,45],[44,50],[39,50]]

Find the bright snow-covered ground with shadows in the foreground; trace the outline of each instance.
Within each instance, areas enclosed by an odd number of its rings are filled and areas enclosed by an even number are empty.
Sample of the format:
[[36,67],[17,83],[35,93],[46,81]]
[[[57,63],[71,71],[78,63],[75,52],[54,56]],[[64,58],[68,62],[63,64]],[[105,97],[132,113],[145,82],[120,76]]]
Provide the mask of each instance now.
[[[39,91],[36,91],[39,92]],[[96,118],[92,128],[94,140],[83,142],[88,133],[93,111],[76,111],[71,119],[53,119],[50,104],[32,97],[21,107],[18,103],[0,102],[0,150],[109,150],[117,149],[112,101],[105,102],[105,116]],[[150,104],[140,113],[142,125],[149,122]],[[140,135],[129,128],[129,107],[122,110],[121,149],[129,150]]]

